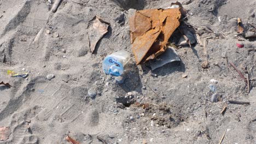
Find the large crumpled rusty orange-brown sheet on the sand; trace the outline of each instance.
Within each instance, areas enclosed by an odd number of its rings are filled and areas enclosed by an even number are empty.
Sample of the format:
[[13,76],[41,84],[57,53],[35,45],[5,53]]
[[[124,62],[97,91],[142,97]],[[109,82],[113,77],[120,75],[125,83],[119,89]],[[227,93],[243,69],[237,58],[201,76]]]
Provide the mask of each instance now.
[[136,11],[130,18],[132,52],[136,64],[165,52],[168,39],[180,24],[179,19],[180,8]]

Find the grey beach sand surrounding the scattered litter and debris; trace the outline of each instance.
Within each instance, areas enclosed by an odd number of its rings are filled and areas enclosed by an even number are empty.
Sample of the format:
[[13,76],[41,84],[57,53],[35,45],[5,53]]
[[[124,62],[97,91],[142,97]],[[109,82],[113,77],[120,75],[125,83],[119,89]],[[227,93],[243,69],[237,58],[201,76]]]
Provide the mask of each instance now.
[[[208,39],[210,68],[201,68],[203,47],[196,44],[177,50],[181,65],[167,64],[154,70],[154,77],[148,67],[135,65],[128,9],[167,8],[171,1],[63,0],[52,13],[45,0],[0,0],[0,82],[13,86],[0,86],[0,127],[11,132],[0,143],[68,143],[67,135],[80,143],[102,143],[97,136],[107,143],[218,143],[225,131],[222,143],[256,143],[255,82],[248,94],[246,83],[222,57],[226,52],[243,74],[247,66],[255,77],[255,51],[248,52],[255,39],[242,41],[245,47],[239,49],[234,35],[237,17],[246,31],[252,28],[248,22],[256,26],[256,1],[181,2],[191,25],[216,33],[200,33],[201,38],[218,36]],[[116,19],[123,13],[120,23]],[[91,54],[87,28],[95,15],[110,26]],[[118,50],[132,56],[123,84],[102,71],[103,58]],[[28,77],[10,77],[7,70]],[[55,77],[48,80],[50,74]],[[210,101],[210,84],[223,101]],[[90,97],[90,89],[96,97]],[[227,100],[251,105],[228,104],[223,116]]]

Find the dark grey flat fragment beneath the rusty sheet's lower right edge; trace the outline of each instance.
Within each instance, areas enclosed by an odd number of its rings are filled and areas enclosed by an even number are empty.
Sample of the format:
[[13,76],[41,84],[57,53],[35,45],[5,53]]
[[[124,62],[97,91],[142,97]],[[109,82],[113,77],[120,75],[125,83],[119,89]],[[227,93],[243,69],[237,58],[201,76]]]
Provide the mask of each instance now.
[[177,52],[173,47],[168,46],[166,51],[162,53],[158,58],[149,61],[152,70],[162,67],[167,63],[173,63],[174,65],[179,65],[181,59],[179,58]]

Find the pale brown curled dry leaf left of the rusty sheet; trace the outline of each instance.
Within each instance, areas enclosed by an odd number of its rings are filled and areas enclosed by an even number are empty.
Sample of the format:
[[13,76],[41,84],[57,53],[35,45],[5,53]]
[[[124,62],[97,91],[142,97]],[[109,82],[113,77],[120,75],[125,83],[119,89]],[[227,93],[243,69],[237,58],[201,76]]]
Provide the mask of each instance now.
[[90,51],[94,52],[98,41],[108,32],[109,22],[102,20],[100,17],[95,16],[91,20],[88,28]]

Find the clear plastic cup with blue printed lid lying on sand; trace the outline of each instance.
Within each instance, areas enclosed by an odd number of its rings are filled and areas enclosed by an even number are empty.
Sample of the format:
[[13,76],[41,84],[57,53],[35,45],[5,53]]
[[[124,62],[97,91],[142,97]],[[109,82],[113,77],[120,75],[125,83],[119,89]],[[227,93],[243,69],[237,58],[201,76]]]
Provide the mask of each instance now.
[[103,70],[108,75],[120,76],[124,73],[124,66],[130,60],[130,53],[126,51],[114,52],[104,58]]

